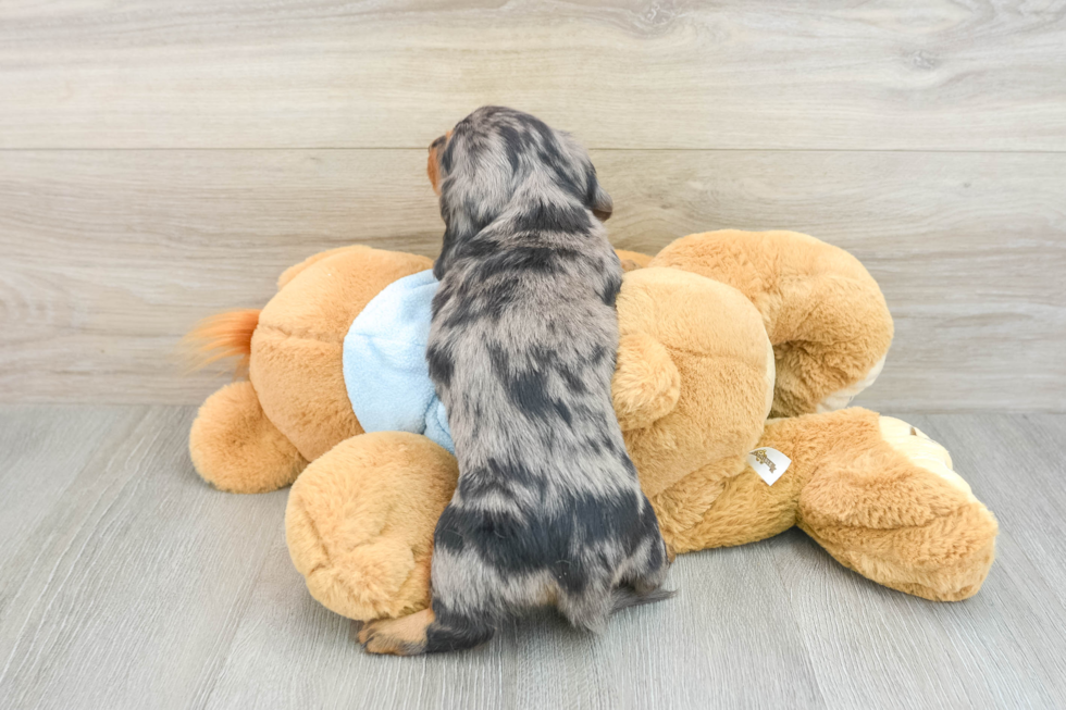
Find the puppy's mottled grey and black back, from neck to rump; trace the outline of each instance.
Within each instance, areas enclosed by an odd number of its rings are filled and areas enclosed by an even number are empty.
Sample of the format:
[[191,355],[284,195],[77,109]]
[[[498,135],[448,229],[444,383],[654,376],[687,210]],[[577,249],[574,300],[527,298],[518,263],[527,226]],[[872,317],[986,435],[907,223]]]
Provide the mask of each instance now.
[[568,233],[505,221],[442,283],[429,357],[460,478],[433,581],[466,587],[471,609],[553,600],[596,627],[666,566],[610,398],[621,265],[585,214]]

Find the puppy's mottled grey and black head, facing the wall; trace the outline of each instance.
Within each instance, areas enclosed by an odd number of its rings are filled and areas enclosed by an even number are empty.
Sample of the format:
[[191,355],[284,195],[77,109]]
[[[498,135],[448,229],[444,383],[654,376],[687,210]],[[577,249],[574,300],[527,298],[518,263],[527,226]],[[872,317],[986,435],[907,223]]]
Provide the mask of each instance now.
[[430,145],[427,173],[446,226],[434,266],[438,278],[456,246],[516,200],[534,209],[580,204],[602,221],[611,214],[587,151],[569,134],[513,109],[482,107],[460,121]]

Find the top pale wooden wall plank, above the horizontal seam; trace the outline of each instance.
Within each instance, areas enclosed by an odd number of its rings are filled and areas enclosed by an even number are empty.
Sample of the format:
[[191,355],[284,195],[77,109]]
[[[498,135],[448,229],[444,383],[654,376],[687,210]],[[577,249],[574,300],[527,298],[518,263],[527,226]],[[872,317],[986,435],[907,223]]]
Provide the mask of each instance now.
[[483,103],[597,148],[1066,150],[1061,1],[8,0],[3,148],[422,148]]

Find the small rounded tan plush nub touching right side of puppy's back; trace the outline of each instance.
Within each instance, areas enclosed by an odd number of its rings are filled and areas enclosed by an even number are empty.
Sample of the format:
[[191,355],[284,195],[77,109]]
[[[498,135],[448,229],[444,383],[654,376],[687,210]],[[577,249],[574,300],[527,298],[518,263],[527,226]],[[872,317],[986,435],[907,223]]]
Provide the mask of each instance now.
[[611,385],[615,413],[623,432],[662,419],[681,396],[681,373],[661,342],[646,333],[623,335]]

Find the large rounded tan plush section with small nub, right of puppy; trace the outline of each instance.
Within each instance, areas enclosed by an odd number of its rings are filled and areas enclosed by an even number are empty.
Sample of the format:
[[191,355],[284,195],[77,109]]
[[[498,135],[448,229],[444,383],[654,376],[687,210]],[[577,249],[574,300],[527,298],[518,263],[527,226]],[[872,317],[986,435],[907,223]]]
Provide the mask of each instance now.
[[773,397],[763,317],[736,289],[678,269],[625,274],[618,297],[615,410],[650,498],[744,456]]

